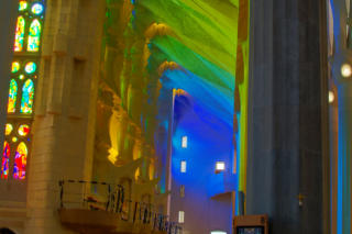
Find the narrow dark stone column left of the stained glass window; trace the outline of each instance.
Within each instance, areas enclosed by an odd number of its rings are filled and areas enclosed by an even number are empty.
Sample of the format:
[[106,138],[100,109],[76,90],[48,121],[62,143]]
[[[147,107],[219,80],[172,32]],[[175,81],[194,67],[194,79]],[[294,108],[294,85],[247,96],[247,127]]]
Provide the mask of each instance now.
[[[13,56],[14,30],[18,1],[0,2],[0,146],[3,147],[3,131],[7,121],[10,70]],[[2,156],[2,154],[1,154]]]

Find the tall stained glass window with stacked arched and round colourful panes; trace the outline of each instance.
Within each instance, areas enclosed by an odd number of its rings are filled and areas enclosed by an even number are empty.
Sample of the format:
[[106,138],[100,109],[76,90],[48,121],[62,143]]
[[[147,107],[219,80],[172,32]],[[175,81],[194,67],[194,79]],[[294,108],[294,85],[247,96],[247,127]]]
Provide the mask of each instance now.
[[[35,80],[38,71],[38,58],[43,19],[44,0],[18,0],[18,19],[14,37],[14,60],[11,67],[11,80],[8,101],[8,123],[0,167],[0,178],[7,179],[9,174],[15,179],[25,179],[29,143],[31,142],[31,124]],[[31,55],[29,57],[29,53]],[[29,60],[30,59],[30,60]],[[20,115],[21,113],[21,115]],[[10,152],[10,147],[12,152]],[[11,154],[10,154],[11,153]],[[1,157],[1,154],[0,154]],[[9,165],[13,170],[9,171]]]

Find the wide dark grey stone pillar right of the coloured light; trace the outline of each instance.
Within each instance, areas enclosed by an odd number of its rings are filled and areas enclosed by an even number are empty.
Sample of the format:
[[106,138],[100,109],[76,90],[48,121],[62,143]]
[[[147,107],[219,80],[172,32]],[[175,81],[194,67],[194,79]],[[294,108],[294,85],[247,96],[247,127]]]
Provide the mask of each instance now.
[[[320,0],[252,0],[246,214],[323,233]],[[321,46],[323,47],[323,46]]]

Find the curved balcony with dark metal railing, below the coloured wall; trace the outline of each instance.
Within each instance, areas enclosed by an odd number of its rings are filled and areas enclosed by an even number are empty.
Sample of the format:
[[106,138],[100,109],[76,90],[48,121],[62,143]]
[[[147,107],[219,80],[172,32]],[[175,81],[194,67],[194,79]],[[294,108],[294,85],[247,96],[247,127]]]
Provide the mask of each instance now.
[[157,212],[153,204],[127,199],[121,185],[61,180],[58,186],[61,209],[106,211],[120,214],[120,219],[125,222],[150,225],[153,231],[182,233],[182,227],[169,222],[167,215]]

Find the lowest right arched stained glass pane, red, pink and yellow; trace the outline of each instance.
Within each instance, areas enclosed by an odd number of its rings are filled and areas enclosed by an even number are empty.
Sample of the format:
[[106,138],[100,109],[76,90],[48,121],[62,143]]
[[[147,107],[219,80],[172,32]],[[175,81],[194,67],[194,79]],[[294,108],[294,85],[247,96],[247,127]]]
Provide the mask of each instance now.
[[25,165],[26,165],[28,154],[29,154],[29,151],[26,148],[26,145],[23,142],[21,142],[14,154],[14,163],[13,163],[14,179],[25,179]]

